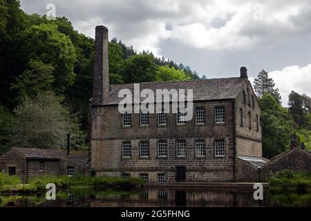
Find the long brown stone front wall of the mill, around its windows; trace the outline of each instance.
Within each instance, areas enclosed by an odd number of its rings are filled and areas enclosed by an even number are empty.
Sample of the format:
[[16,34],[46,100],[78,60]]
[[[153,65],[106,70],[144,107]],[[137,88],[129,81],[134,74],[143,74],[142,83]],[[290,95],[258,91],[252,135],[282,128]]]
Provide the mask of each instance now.
[[[205,107],[205,125],[196,125],[195,118],[186,126],[176,125],[176,114],[169,114],[167,126],[158,126],[158,115],[150,114],[149,126],[140,126],[139,115],[132,114],[132,125],[122,126],[117,106],[93,108],[91,153],[92,168],[97,175],[149,173],[156,182],[158,173],[167,174],[167,182],[176,180],[176,166],[186,167],[186,181],[231,181],[233,179],[232,101],[196,102]],[[225,106],[225,124],[214,123],[214,108]],[[195,156],[195,140],[205,140],[205,157]],[[225,139],[225,157],[215,157],[214,140]],[[139,157],[139,143],[149,140],[150,156]],[[158,140],[167,140],[168,156],[157,155]],[[176,140],[185,140],[186,157],[176,157]],[[122,142],[131,141],[132,157],[122,158]]]

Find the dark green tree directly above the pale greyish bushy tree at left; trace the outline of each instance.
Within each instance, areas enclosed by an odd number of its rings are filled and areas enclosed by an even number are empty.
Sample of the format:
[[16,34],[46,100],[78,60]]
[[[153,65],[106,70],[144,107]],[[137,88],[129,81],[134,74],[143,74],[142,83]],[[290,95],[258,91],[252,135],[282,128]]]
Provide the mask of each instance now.
[[28,68],[16,78],[11,89],[16,90],[21,101],[24,97],[35,98],[39,93],[47,90],[53,90],[54,67],[50,64],[44,64],[42,61],[30,60]]

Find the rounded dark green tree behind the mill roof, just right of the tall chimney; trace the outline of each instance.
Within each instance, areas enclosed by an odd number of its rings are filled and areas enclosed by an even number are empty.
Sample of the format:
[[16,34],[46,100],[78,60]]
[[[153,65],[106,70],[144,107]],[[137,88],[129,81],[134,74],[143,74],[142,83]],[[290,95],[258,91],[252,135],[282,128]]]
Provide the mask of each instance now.
[[156,80],[157,69],[152,55],[132,55],[122,62],[120,74],[126,84],[151,82]]

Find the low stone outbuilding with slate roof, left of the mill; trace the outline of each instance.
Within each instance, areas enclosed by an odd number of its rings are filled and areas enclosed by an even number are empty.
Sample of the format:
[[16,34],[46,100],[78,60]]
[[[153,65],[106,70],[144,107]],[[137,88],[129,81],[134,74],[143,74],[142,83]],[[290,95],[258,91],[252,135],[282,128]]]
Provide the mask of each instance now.
[[23,183],[40,175],[88,174],[88,151],[13,147],[0,156],[0,172],[17,175]]

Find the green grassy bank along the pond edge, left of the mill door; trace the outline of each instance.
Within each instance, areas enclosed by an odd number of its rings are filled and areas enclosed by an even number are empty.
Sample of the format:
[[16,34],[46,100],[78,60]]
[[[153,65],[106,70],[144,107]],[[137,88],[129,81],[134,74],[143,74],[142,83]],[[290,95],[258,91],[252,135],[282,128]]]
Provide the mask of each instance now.
[[33,192],[46,191],[46,184],[53,183],[58,189],[87,187],[92,189],[139,189],[144,181],[140,178],[122,179],[120,177],[86,177],[85,175],[42,176],[30,179],[23,185],[16,176],[0,173],[0,192]]

